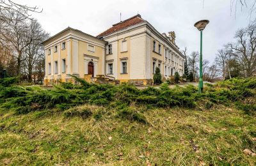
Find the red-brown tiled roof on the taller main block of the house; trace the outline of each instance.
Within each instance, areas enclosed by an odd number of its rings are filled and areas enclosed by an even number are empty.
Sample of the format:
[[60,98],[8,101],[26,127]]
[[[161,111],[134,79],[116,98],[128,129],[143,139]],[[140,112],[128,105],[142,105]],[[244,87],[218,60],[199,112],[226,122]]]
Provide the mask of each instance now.
[[141,22],[145,22],[145,20],[141,19],[141,16],[139,14],[134,15],[134,17],[131,17],[129,19],[118,22],[117,24],[113,24],[113,26],[110,27],[108,30],[104,31],[103,33],[100,33],[97,36],[97,38],[100,38],[102,36],[107,36],[108,34],[115,33],[116,31],[125,29],[129,26],[134,26],[136,24],[140,24]]

